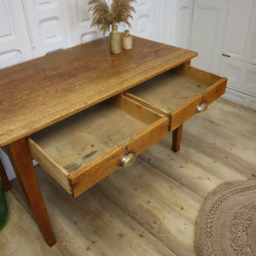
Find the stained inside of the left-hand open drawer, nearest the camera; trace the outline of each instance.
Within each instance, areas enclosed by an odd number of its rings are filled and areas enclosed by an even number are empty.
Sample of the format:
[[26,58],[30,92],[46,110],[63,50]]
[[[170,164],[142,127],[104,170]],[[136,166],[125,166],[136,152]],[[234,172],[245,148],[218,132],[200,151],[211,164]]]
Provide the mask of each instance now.
[[116,96],[39,131],[30,139],[58,166],[72,173],[160,118],[137,102]]

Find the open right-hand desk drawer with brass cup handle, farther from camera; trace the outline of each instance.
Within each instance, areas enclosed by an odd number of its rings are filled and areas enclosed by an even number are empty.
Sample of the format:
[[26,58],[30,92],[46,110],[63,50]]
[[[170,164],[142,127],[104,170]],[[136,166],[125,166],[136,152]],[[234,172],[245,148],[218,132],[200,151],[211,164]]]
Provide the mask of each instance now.
[[125,92],[125,96],[169,118],[169,131],[223,95],[227,79],[181,65]]

